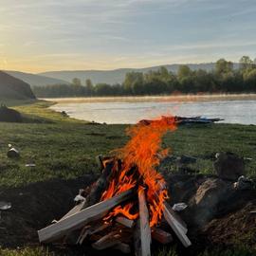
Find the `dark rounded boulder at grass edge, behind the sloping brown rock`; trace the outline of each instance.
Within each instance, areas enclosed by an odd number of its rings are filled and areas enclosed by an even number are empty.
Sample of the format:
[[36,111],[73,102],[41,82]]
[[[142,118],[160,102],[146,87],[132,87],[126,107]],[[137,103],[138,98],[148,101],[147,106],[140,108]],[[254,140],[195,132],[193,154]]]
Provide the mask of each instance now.
[[237,180],[245,174],[244,159],[233,153],[217,153],[213,166],[216,174],[223,179]]

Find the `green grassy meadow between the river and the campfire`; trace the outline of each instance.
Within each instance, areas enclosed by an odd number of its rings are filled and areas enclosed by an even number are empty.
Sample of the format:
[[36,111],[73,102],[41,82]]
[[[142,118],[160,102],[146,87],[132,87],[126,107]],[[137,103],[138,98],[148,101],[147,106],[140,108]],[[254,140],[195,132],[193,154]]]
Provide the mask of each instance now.
[[[28,123],[0,122],[0,185],[20,186],[54,177],[67,179],[98,172],[96,155],[108,155],[128,139],[127,125],[96,125],[65,118],[48,109],[50,104],[46,101],[19,104],[14,108],[29,119]],[[19,159],[7,157],[8,144],[20,150]],[[197,156],[197,163],[190,167],[202,174],[213,173],[211,157],[216,152],[230,151],[252,157],[247,163],[247,175],[256,175],[256,126],[179,127],[164,137],[163,145],[170,147],[174,155]],[[36,167],[25,167],[30,162]]]

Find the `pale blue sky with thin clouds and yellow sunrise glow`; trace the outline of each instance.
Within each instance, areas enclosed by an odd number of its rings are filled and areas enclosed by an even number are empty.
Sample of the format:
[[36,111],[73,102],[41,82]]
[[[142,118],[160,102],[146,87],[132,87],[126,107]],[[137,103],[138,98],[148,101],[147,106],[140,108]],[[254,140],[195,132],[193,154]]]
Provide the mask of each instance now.
[[0,0],[0,69],[256,58],[255,0]]

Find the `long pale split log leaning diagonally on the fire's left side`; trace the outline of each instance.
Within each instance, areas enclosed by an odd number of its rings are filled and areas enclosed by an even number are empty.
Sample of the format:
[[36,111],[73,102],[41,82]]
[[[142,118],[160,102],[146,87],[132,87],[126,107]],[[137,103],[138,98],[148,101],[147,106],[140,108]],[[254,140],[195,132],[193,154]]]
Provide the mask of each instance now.
[[108,210],[111,210],[121,202],[130,199],[132,195],[133,190],[122,192],[110,199],[70,215],[45,229],[40,229],[38,230],[39,241],[41,243],[54,241],[72,230],[81,229],[87,223],[100,219]]

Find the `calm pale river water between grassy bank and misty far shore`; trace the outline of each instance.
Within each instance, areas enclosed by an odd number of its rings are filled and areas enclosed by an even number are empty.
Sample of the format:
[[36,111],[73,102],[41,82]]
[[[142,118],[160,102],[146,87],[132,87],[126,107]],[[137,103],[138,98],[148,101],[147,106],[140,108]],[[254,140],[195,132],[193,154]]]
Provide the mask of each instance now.
[[58,103],[51,108],[65,111],[75,119],[106,123],[136,123],[140,119],[173,114],[221,118],[226,123],[256,124],[256,101],[72,102]]

